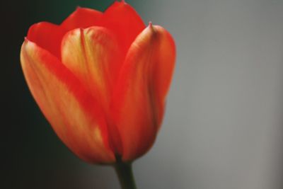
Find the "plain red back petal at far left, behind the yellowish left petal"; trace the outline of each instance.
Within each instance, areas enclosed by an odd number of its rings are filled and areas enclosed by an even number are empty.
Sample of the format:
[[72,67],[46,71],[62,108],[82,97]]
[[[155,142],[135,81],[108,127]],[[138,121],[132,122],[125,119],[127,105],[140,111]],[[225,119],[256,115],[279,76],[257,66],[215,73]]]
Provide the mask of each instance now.
[[59,25],[40,22],[30,27],[27,38],[60,59],[61,41],[65,33],[66,30]]

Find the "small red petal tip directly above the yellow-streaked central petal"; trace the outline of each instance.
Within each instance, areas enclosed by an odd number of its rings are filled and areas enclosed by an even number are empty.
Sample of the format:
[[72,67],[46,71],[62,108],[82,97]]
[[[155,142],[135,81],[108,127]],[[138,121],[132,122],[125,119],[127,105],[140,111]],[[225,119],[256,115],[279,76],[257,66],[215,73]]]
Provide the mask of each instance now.
[[103,13],[91,8],[76,8],[76,11],[71,13],[66,20],[61,24],[62,28],[73,30],[75,28],[89,28],[98,25]]

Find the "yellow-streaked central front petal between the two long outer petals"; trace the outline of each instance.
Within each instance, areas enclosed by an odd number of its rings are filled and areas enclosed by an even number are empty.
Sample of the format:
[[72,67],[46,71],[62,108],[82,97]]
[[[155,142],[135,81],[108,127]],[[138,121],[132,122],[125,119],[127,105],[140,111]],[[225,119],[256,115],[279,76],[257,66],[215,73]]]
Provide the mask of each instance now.
[[96,96],[105,111],[117,77],[119,55],[115,38],[105,28],[78,28],[62,40],[63,64]]

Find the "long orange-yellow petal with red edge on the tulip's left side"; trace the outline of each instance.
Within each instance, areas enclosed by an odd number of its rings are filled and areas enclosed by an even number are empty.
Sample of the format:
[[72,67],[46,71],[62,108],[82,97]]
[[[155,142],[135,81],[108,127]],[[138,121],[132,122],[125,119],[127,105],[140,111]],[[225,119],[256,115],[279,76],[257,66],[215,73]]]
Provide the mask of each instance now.
[[21,64],[35,101],[64,144],[91,163],[115,161],[94,98],[49,52],[25,40]]

